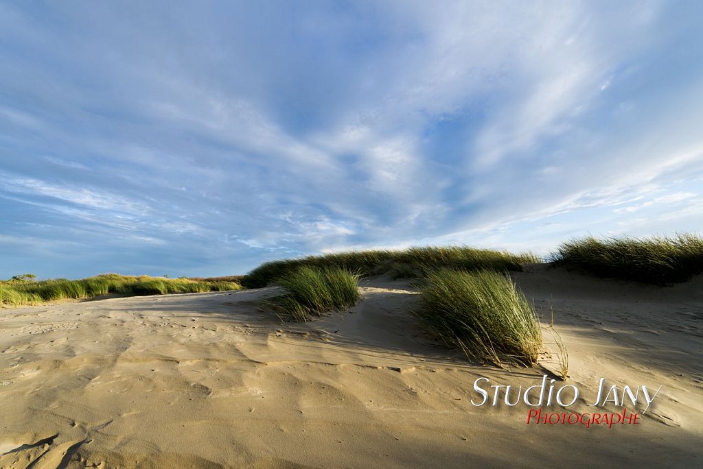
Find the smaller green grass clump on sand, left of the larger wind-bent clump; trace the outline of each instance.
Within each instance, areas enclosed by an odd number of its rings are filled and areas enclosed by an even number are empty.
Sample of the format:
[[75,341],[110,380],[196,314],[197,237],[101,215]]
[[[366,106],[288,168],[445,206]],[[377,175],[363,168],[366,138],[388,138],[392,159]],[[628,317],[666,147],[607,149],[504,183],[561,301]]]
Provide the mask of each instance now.
[[350,308],[361,298],[359,276],[340,267],[302,267],[276,280],[284,293],[262,302],[283,319],[305,322],[332,310]]

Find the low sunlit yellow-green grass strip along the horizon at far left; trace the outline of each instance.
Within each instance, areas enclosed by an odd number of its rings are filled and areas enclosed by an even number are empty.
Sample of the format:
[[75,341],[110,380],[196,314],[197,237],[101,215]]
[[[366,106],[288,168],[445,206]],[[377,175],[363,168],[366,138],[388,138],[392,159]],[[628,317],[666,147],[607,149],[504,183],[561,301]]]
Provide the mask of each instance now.
[[15,276],[0,281],[0,305],[34,305],[67,298],[93,298],[108,293],[125,296],[161,295],[164,293],[198,293],[238,290],[240,284],[224,281],[168,279],[105,274],[80,280],[53,279],[34,281],[34,276]]

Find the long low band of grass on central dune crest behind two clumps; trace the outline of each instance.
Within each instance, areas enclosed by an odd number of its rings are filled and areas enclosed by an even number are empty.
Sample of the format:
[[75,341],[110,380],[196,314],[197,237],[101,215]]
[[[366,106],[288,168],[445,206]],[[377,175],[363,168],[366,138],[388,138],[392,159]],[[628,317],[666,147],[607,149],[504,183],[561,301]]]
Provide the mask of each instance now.
[[394,278],[407,278],[424,275],[427,270],[439,267],[503,271],[521,270],[521,263],[533,262],[540,260],[531,253],[512,254],[467,246],[415,247],[398,251],[349,251],[299,259],[273,260],[259,265],[245,275],[242,285],[247,288],[261,288],[302,266],[341,267],[350,272],[359,272],[363,276],[389,273]]

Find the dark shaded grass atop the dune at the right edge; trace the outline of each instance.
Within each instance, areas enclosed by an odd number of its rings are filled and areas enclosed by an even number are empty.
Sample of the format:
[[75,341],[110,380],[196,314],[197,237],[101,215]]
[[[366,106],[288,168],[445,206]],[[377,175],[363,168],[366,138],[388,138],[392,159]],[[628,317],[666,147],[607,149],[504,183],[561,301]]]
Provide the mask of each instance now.
[[649,284],[686,282],[703,273],[703,238],[586,237],[562,244],[552,260],[600,277],[614,277]]

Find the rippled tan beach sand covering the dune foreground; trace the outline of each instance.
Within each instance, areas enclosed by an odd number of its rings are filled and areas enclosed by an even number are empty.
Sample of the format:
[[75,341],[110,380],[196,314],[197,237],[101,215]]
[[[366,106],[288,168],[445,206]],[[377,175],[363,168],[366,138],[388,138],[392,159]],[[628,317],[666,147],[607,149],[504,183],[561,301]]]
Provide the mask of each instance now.
[[582,393],[543,409],[596,411],[601,377],[661,385],[638,425],[475,407],[477,378],[536,385],[553,357],[467,362],[408,315],[408,282],[373,279],[353,310],[307,324],[259,310],[271,288],[0,310],[0,467],[701,465],[703,277],[660,288],[528,270],[515,280],[545,326],[553,308]]

